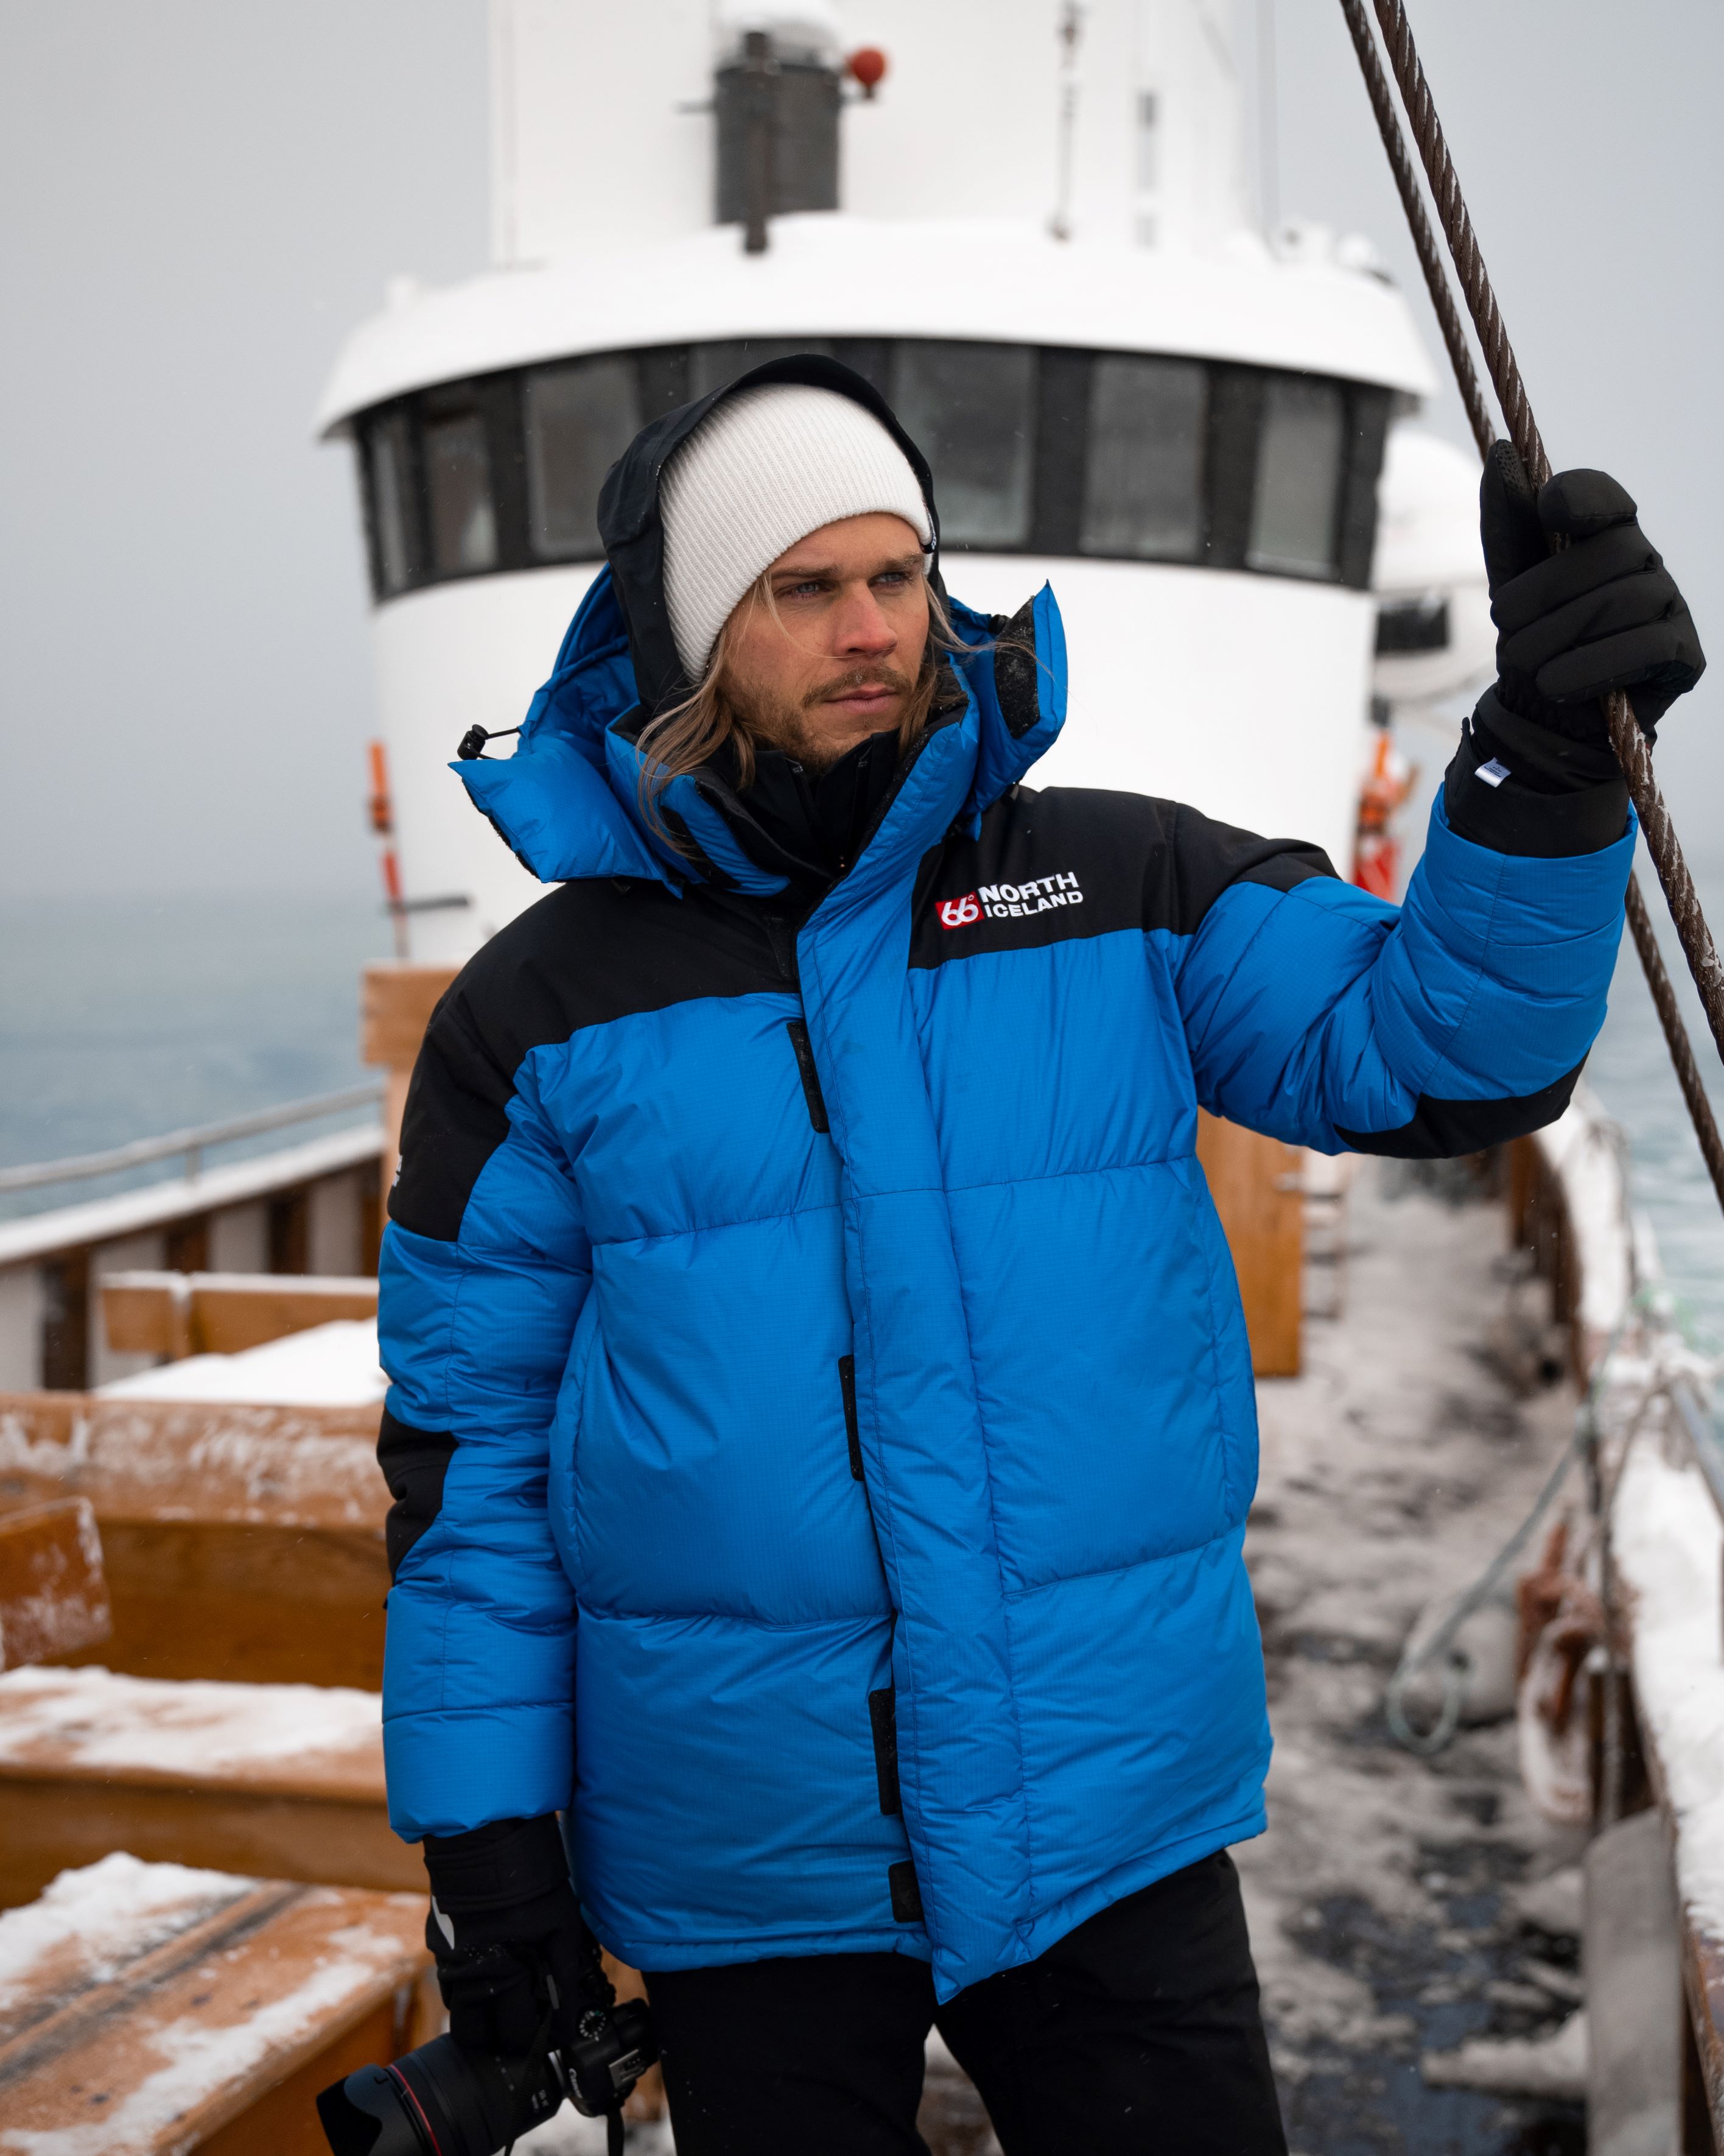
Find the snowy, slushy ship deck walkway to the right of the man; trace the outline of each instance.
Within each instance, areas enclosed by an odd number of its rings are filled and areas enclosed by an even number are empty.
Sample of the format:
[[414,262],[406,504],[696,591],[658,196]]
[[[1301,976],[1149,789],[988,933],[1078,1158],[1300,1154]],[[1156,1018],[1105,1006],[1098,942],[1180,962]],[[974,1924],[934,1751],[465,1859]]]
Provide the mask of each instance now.
[[[1259,1386],[1248,1561],[1276,1759],[1269,1833],[1237,1858],[1289,2143],[1308,2156],[1584,2145],[1577,2029],[1549,2040],[1575,2012],[1586,1837],[1521,1787],[1508,1613],[1478,1641],[1500,1649],[1493,1680],[1478,1671],[1500,1718],[1420,1759],[1384,1714],[1412,1626],[1519,1524],[1577,1404],[1567,1378],[1541,1382],[1547,1302],[1504,1207],[1440,1173],[1459,1201],[1360,1162],[1343,1315],[1306,1324],[1299,1378]],[[1504,2078],[1545,2096],[1427,2078],[1422,2057],[1476,2037],[1539,2044]]]

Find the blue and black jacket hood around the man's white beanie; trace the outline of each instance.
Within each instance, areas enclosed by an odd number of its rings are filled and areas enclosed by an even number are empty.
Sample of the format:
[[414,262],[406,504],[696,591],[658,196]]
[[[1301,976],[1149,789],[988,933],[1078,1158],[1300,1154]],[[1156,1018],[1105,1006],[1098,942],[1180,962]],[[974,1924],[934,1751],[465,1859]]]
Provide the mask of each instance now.
[[[659,796],[698,849],[679,854],[640,811],[640,759],[634,737],[642,724],[692,688],[670,636],[664,604],[664,524],[659,474],[720,399],[771,382],[806,382],[856,399],[892,433],[922,487],[933,524],[929,578],[946,599],[961,649],[953,653],[950,694],[937,699],[935,722],[905,759],[905,770],[942,740],[940,765],[950,798],[953,780],[968,772],[957,819],[972,821],[1054,742],[1065,722],[1065,634],[1052,589],[1043,586],[1011,623],[985,617],[946,595],[940,582],[940,515],[927,459],[899,425],[879,392],[817,354],[769,360],[722,390],[653,420],[612,466],[599,496],[599,533],[606,567],[593,580],[556,653],[550,679],[532,699],[513,757],[472,757],[453,763],[474,806],[481,808],[519,860],[545,884],[588,875],[642,875],[681,890],[709,880],[737,890],[771,893],[784,877],[763,869],[748,839],[746,796],[739,798],[709,765],[672,780]],[[996,636],[1011,649],[996,651]],[[1034,649],[1034,664],[1024,651]],[[927,789],[920,789],[927,791]],[[933,813],[933,811],[929,811]],[[916,841],[912,824],[888,817],[896,845]],[[950,813],[948,813],[950,821]],[[933,843],[937,830],[922,837]],[[756,849],[759,852],[759,849]]]

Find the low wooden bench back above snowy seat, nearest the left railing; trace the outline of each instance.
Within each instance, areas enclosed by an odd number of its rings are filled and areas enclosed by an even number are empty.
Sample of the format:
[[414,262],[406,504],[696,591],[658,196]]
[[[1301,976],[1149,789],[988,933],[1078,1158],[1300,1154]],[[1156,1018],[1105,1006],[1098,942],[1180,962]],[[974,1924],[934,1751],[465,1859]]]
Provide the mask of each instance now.
[[377,1283],[315,1272],[110,1272],[101,1324],[114,1354],[244,1354],[332,1317],[375,1317]]

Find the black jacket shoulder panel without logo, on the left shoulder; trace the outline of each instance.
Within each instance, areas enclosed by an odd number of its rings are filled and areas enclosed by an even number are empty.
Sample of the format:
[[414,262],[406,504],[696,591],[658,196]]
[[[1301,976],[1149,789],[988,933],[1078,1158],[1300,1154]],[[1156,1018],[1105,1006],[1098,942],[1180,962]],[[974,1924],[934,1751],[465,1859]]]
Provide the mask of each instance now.
[[401,1119],[390,1220],[455,1242],[472,1186],[509,1136],[534,1048],[696,996],[782,990],[763,925],[694,886],[562,884],[500,929],[431,1013]]

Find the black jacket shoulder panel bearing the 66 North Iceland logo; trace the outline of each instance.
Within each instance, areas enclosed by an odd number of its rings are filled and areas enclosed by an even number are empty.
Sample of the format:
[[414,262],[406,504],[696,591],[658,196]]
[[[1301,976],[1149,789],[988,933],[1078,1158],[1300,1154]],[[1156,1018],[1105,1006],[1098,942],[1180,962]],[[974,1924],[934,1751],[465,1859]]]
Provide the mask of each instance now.
[[1308,875],[1334,875],[1321,847],[1259,839],[1179,802],[1015,787],[987,811],[976,839],[948,837],[924,856],[909,964],[1116,929],[1194,936],[1231,884],[1291,890]]

